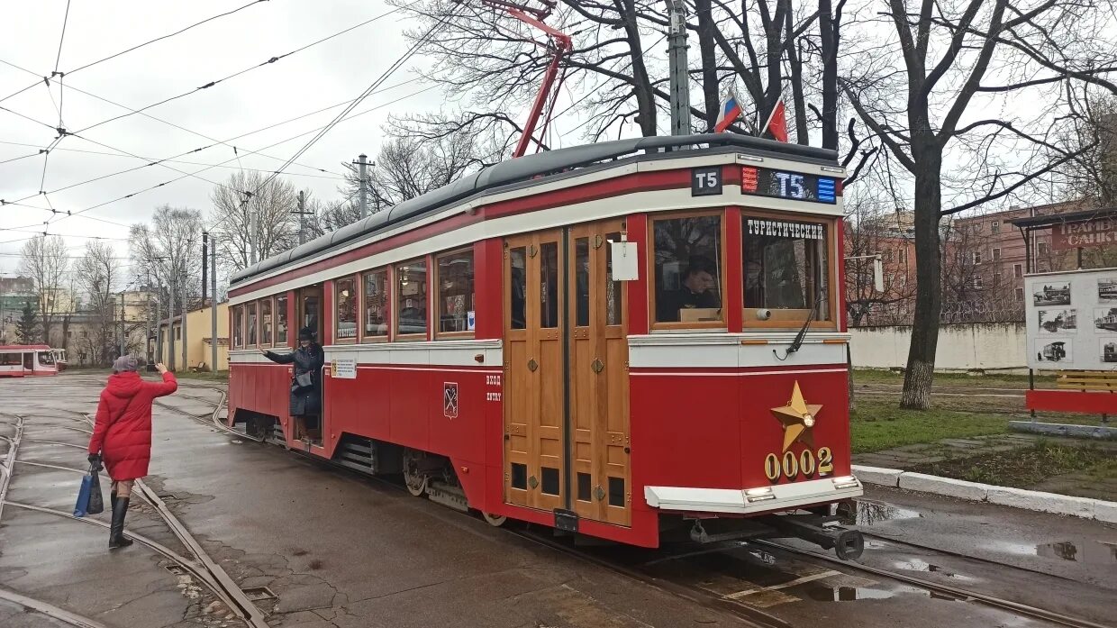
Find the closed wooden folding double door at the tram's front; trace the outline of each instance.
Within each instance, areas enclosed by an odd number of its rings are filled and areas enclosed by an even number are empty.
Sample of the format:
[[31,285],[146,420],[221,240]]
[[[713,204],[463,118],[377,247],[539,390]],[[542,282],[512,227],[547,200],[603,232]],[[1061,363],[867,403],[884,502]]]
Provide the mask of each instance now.
[[505,241],[505,497],[629,525],[622,222]]

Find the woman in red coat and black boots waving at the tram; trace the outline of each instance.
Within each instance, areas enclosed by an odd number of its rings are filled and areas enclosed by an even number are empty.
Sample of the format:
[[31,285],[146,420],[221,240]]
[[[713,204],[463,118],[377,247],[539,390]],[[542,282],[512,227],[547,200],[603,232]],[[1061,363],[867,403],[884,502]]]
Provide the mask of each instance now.
[[147,475],[151,462],[151,405],[179,389],[174,373],[163,364],[155,368],[162,382],[147,382],[136,372],[136,359],[122,355],[113,362],[113,374],[97,405],[97,420],[89,437],[89,463],[104,463],[113,480],[109,501],[113,521],[108,529],[108,549],[126,548],[132,540],[124,536],[124,516],[136,479]]

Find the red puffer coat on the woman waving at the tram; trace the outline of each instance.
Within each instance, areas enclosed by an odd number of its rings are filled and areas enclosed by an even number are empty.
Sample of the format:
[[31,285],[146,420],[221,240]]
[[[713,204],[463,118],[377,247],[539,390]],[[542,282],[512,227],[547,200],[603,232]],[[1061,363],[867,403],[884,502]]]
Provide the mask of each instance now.
[[125,371],[108,378],[101,392],[97,422],[89,438],[89,454],[101,453],[114,482],[147,475],[151,462],[151,402],[179,389],[174,374],[163,382],[145,382],[140,373]]

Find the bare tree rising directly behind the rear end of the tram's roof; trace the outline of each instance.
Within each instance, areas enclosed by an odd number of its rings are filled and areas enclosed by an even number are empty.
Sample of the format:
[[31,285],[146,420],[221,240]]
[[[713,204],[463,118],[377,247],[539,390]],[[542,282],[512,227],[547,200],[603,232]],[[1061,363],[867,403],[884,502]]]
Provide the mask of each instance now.
[[250,266],[254,251],[259,261],[298,244],[298,221],[292,215],[298,192],[285,179],[235,172],[213,188],[210,199],[210,221],[222,245],[218,259],[228,270]]

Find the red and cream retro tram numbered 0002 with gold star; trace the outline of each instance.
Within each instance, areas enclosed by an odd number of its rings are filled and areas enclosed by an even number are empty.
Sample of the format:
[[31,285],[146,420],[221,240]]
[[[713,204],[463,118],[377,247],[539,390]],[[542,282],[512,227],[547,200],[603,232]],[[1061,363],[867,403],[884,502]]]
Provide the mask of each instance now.
[[[859,553],[824,516],[862,491],[842,175],[832,151],[718,134],[466,177],[232,277],[229,421],[494,524]],[[302,326],[326,352],[321,440],[258,351]]]

